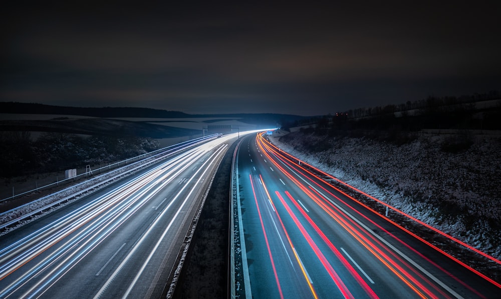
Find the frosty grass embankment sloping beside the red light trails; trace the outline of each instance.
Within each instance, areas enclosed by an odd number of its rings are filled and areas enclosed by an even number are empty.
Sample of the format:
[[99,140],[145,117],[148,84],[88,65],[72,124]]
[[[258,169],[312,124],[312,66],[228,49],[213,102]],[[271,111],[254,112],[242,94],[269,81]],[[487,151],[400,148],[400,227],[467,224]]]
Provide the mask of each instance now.
[[[422,135],[397,146],[369,138],[276,131],[286,152],[391,206],[501,258],[501,139],[477,135],[469,149],[441,150],[446,138]],[[329,143],[312,151],[312,145]]]

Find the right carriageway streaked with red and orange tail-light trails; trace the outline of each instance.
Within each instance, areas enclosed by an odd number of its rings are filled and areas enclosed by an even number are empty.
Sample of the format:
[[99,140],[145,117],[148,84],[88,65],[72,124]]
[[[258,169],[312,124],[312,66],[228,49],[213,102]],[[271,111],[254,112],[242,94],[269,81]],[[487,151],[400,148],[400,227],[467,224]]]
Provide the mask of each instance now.
[[240,297],[501,297],[498,281],[317,177],[266,134],[245,137],[236,163]]

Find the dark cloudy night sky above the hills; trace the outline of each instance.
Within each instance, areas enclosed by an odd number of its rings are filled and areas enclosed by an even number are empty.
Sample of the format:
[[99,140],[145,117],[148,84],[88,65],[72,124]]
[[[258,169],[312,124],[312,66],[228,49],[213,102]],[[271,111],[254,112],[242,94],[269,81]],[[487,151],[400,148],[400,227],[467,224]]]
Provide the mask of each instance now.
[[308,116],[501,90],[496,1],[15,3],[0,101]]

